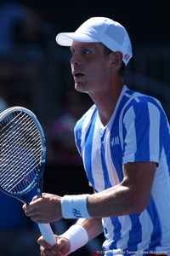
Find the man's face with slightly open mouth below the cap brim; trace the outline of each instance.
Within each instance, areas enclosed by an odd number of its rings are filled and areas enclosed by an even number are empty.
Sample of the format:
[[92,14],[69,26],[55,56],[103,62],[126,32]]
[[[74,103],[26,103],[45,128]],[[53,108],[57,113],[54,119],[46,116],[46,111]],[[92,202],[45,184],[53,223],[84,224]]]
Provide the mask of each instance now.
[[105,90],[111,61],[105,58],[103,45],[73,41],[71,53],[71,72],[76,90],[90,96]]

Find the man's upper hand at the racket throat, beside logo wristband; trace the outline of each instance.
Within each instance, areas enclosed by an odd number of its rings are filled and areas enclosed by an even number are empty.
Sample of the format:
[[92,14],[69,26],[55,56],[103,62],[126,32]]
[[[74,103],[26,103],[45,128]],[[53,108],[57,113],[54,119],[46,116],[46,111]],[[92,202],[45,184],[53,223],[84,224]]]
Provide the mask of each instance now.
[[61,199],[59,195],[43,193],[41,198],[35,196],[29,205],[25,204],[23,210],[31,220],[46,224],[62,218]]

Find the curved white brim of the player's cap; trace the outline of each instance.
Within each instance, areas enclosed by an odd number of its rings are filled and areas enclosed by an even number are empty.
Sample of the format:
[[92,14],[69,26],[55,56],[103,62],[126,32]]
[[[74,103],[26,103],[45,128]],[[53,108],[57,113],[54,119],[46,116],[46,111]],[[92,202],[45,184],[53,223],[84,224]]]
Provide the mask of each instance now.
[[92,38],[86,34],[78,32],[69,32],[69,33],[59,33],[55,38],[57,44],[63,46],[71,46],[72,41],[82,42],[82,43],[96,43],[99,40]]

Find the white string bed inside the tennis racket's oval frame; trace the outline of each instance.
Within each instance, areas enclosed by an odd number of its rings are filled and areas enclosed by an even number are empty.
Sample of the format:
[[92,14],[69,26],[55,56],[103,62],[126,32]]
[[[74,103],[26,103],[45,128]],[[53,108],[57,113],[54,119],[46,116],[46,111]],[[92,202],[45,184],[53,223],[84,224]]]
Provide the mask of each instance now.
[[37,125],[29,115],[10,115],[8,125],[1,129],[0,183],[8,192],[17,193],[36,179],[37,167],[41,163],[42,143]]

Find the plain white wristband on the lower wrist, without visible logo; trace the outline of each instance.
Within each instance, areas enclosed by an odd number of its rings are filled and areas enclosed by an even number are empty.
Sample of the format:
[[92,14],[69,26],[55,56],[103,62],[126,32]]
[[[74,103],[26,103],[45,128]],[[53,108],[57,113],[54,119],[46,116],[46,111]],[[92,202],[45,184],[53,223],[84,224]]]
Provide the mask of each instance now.
[[70,241],[70,249],[65,255],[75,252],[78,248],[83,247],[88,242],[88,232],[82,228],[82,226],[77,224],[72,225],[69,230],[60,236],[65,237]]

